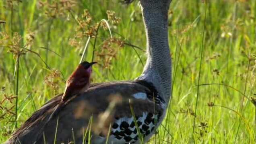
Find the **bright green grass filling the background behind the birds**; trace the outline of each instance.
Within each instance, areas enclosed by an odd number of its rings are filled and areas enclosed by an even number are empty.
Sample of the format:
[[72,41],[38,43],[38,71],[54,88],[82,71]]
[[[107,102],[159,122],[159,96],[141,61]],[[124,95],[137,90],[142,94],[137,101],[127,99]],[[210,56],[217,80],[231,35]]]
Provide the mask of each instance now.
[[[6,2],[0,0],[0,20],[6,22],[0,24],[0,31],[10,37],[13,32],[18,32],[23,38],[20,46],[27,43],[25,37],[29,30],[35,32],[34,42],[27,48],[37,52],[51,69],[60,70],[64,79],[77,66],[87,41],[87,38],[82,38],[77,48],[68,44],[77,33],[75,28],[78,24],[73,16],[81,17],[84,9],[89,10],[94,22],[107,20],[107,10],[115,11],[122,20],[116,28],[110,24],[113,36],[145,50],[145,31],[136,1],[125,6],[118,4],[118,0],[77,0],[71,13],[65,10],[56,18],[46,16],[47,8],[40,8],[37,0],[23,0],[12,10]],[[201,0],[173,0],[171,3],[172,99],[164,122],[149,143],[255,143],[255,106],[247,98],[242,101],[243,94],[249,98],[256,94],[256,0],[210,0],[207,4],[200,84],[215,85],[200,86],[193,133],[205,6]],[[109,38],[108,30],[100,28],[97,37],[95,48],[99,52],[103,40]],[[86,60],[92,58],[93,44],[94,38],[89,42]],[[15,96],[17,84],[17,78],[13,77],[16,59],[8,52],[10,48],[5,46],[0,46],[0,100],[4,99],[4,94]],[[136,52],[143,63],[145,52],[136,48],[135,52],[128,45],[119,48],[114,44],[113,48],[117,51],[116,58],[111,59],[108,68],[94,67],[93,82],[131,80],[142,72],[143,66]],[[59,88],[45,84],[49,68],[39,56],[27,52],[20,57],[18,127],[47,100],[64,90],[62,78],[56,79]],[[97,54],[95,60],[103,64]],[[210,102],[215,106],[208,106]],[[15,116],[12,114],[15,113],[15,98],[12,103],[4,100],[0,106],[2,143],[15,129]],[[6,108],[12,108],[12,113]]]

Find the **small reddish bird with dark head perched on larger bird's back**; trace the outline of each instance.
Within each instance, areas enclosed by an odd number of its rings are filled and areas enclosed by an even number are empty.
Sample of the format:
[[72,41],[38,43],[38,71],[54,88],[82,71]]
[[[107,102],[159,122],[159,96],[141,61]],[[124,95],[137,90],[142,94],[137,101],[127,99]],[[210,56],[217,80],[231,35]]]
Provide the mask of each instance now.
[[92,65],[97,62],[82,62],[72,72],[71,76],[66,82],[66,88],[62,96],[62,102],[68,100],[74,94],[85,92],[90,86],[90,77],[92,72]]

